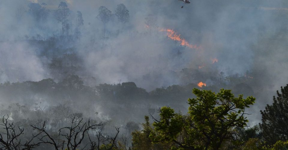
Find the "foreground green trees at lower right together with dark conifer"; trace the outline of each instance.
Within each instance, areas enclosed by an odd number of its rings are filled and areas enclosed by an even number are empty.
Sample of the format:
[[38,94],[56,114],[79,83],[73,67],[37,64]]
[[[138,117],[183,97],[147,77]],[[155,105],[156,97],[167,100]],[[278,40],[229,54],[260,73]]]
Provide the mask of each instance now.
[[231,90],[218,93],[194,88],[196,98],[188,99],[188,113],[170,107],[159,110],[159,119],[149,116],[142,131],[132,132],[134,149],[288,149],[288,84],[273,104],[261,110],[262,122],[247,128],[245,109],[255,103],[252,96],[235,97]]

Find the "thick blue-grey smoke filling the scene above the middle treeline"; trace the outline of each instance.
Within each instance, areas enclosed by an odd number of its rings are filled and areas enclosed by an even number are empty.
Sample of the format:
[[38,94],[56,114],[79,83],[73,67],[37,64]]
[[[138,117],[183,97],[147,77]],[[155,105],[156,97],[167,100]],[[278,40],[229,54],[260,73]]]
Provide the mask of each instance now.
[[[46,19],[36,21],[29,15],[31,2],[47,4]],[[287,10],[282,9],[286,1],[192,0],[184,5],[177,0],[67,0],[71,29],[78,10],[84,20],[76,43],[53,41],[61,32],[53,12],[60,2],[0,1],[0,82],[61,80],[61,71],[49,67],[53,58],[62,57],[59,49],[64,49],[77,54],[83,67],[74,72],[90,86],[129,81],[148,91],[191,82],[218,86],[215,78],[220,72],[224,77],[250,73],[253,80],[245,84],[257,98],[252,112],[271,103],[273,93],[287,83]],[[104,37],[103,23],[96,18],[98,8],[105,6],[115,13],[120,3],[129,10],[129,22],[121,24],[114,16]],[[181,46],[161,29],[173,29],[201,48]],[[54,45],[44,55],[45,46],[28,42],[35,39],[49,39]],[[218,61],[213,63],[215,58]],[[189,69],[191,74],[185,74]]]

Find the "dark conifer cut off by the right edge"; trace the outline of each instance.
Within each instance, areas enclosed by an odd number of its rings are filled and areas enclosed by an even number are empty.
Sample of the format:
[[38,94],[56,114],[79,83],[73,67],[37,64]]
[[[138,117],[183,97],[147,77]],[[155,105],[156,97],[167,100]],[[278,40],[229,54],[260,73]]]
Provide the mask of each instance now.
[[281,93],[277,91],[277,97],[273,96],[273,104],[267,105],[262,115],[260,128],[263,137],[268,144],[274,144],[277,140],[288,140],[288,84]]

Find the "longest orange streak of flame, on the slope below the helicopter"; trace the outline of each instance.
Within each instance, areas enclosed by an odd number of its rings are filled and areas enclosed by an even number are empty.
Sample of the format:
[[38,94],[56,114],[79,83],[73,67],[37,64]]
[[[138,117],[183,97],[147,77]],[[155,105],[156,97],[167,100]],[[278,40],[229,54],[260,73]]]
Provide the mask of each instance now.
[[167,36],[174,40],[174,41],[179,41],[181,42],[182,46],[187,46],[189,48],[192,49],[199,49],[200,47],[197,45],[191,45],[189,44],[184,38],[180,38],[180,34],[177,34],[175,31],[173,31],[172,29],[161,29],[161,32],[166,31],[167,32]]

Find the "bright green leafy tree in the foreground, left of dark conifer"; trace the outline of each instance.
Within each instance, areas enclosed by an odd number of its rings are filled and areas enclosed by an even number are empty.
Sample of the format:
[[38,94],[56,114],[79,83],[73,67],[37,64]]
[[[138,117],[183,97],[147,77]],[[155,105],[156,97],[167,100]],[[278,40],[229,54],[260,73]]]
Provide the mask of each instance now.
[[244,128],[248,120],[245,108],[255,98],[235,97],[231,90],[212,91],[194,88],[196,98],[188,99],[188,114],[175,113],[170,107],[159,110],[160,120],[154,118],[153,142],[175,143],[182,149],[220,149],[224,143],[236,140],[235,127]]

